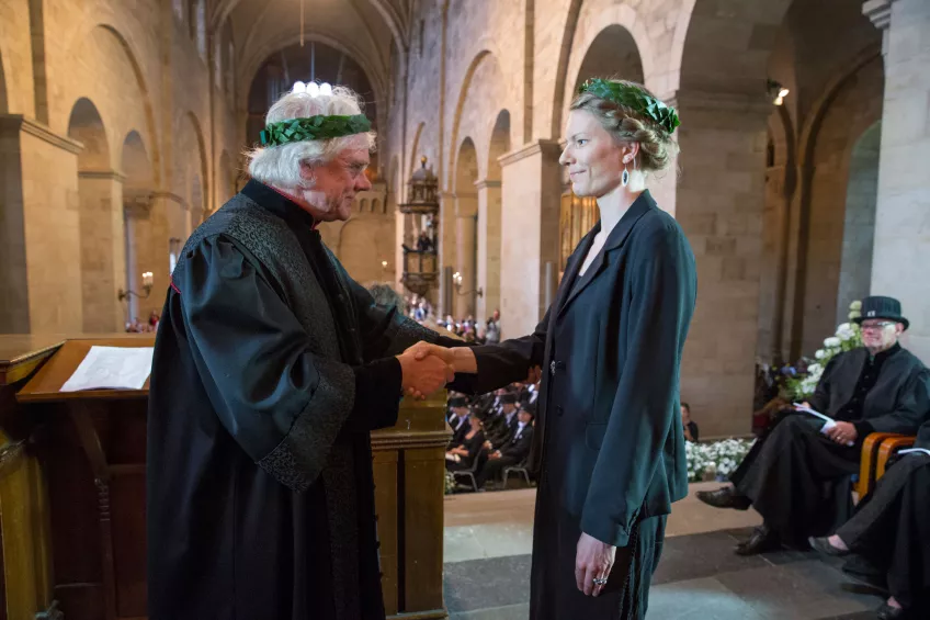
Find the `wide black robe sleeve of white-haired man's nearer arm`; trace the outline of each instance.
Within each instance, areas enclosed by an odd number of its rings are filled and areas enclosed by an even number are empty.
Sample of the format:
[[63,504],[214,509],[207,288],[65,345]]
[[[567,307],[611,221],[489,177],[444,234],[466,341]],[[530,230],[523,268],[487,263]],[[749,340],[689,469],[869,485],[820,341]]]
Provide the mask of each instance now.
[[304,327],[246,248],[224,237],[204,239],[181,261],[173,284],[216,415],[282,484],[306,489],[344,427],[396,424],[399,362],[352,368],[315,354]]

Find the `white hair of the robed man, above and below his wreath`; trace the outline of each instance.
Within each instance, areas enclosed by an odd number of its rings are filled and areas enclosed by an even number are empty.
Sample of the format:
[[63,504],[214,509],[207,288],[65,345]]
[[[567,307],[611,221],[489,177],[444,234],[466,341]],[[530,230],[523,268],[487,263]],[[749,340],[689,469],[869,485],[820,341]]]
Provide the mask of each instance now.
[[[333,87],[332,94],[287,92],[268,111],[265,124],[316,115],[352,116],[362,114],[362,106],[361,98],[345,87]],[[246,156],[249,158],[249,173],[254,179],[265,184],[290,189],[305,185],[300,178],[300,162],[316,167],[332,161],[347,149],[373,151],[374,148],[375,132],[366,132],[338,138],[257,147],[246,153]]]

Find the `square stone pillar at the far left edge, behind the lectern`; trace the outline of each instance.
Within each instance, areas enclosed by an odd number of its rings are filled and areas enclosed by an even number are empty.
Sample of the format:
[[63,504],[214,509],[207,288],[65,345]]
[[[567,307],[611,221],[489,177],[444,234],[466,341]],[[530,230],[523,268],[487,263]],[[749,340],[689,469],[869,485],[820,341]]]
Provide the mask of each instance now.
[[81,331],[80,150],[0,114],[0,332]]

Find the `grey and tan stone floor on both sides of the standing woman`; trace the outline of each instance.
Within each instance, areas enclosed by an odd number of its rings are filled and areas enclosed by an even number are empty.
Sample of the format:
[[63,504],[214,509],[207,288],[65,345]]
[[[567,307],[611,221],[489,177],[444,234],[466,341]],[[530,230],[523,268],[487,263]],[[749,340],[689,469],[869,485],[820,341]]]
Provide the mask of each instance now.
[[[676,504],[648,618],[655,620],[864,620],[882,599],[814,552],[733,553],[760,519]],[[526,620],[533,489],[455,495],[445,510],[445,604],[452,620]]]

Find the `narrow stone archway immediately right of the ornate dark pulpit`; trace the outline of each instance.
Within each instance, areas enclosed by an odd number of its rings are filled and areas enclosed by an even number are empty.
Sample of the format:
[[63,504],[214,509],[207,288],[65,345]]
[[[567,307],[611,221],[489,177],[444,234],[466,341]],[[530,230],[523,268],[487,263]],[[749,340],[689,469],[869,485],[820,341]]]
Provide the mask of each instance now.
[[[477,248],[476,233],[478,218],[478,194],[475,184],[478,181],[478,153],[470,137],[462,140],[455,157],[455,215],[454,222],[443,218],[443,238],[454,235],[454,262],[447,264],[461,275],[461,285],[453,285],[453,316],[456,320],[474,315],[477,295],[475,294]],[[446,213],[452,210],[445,210]],[[453,225],[450,225],[453,224]],[[464,293],[464,294],[463,294]]]

